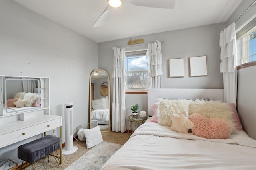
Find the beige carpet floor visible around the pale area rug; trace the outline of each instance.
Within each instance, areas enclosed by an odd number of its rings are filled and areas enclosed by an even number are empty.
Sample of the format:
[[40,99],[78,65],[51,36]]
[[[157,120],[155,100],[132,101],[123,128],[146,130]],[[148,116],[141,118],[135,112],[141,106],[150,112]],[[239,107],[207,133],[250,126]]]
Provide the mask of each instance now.
[[[124,143],[126,143],[126,141],[129,139],[129,135],[128,133],[111,131],[111,132],[102,133],[102,138],[104,141],[124,145]],[[85,142],[74,141],[74,145],[78,147],[78,150],[73,154],[62,156],[61,168],[58,167],[54,157],[50,156],[50,164],[48,163],[47,159],[41,159],[36,162],[35,169],[36,170],[64,170],[70,164],[75,162],[78,158],[80,158],[82,155],[84,155],[86,152],[88,152],[91,149],[91,148],[90,149],[86,148]],[[29,166],[26,169],[29,170],[31,169],[31,167]]]

